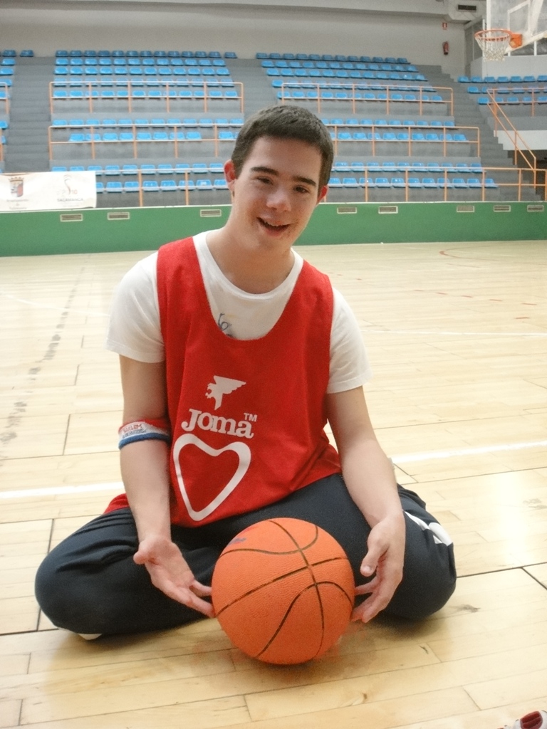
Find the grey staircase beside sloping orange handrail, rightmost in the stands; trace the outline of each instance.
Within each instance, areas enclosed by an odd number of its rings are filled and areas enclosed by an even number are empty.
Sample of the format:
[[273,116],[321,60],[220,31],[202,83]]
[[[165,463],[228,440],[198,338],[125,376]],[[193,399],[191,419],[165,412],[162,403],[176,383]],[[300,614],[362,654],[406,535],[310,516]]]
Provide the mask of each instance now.
[[[468,93],[467,86],[461,84],[448,74],[443,74],[440,66],[419,66],[419,71],[424,74],[433,87],[451,87],[454,90],[454,122],[462,127],[478,127],[481,140],[481,163],[484,167],[513,167],[513,160],[510,153],[503,149],[497,141],[494,132],[476,102],[476,98]],[[511,187],[499,187],[498,190],[489,191],[489,199],[492,199],[492,192],[497,192],[499,200],[516,200],[517,188],[513,187],[519,180],[519,172],[515,167],[514,171],[488,171],[487,177],[492,177],[497,184],[511,184]],[[525,179],[523,182],[531,182]],[[522,200],[539,200],[538,195],[532,187],[523,187],[521,191]]]

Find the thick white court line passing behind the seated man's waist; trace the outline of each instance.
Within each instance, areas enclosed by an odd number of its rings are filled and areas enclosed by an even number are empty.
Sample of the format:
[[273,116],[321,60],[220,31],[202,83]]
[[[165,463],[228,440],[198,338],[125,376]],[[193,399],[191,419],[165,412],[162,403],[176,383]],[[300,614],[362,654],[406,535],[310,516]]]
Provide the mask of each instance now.
[[[409,453],[407,455],[392,456],[397,466],[403,463],[416,463],[419,461],[432,461],[436,459],[461,458],[463,456],[478,456],[481,453],[503,453],[503,451],[524,451],[527,448],[546,448],[547,440],[532,440],[527,443],[503,443],[501,445],[484,445],[481,448],[459,448],[454,451],[429,451],[424,453]],[[123,492],[123,483],[88,483],[82,486],[51,486],[49,488],[23,488],[20,491],[0,491],[0,500],[23,499],[34,496],[63,496],[63,494],[90,494],[100,491]]]

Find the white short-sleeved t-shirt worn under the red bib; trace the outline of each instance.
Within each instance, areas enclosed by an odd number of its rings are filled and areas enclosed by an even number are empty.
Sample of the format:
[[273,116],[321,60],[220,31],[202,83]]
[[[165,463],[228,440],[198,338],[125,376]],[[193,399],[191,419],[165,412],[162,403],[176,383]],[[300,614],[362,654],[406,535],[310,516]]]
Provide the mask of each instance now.
[[[302,269],[303,258],[294,252],[292,270],[276,289],[265,294],[249,294],[224,276],[209,251],[206,238],[207,233],[195,235],[194,244],[214,320],[233,338],[263,337],[281,316]],[[117,286],[112,301],[106,348],[139,362],[163,362],[165,359],[158,305],[157,258],[155,252],[136,263]],[[359,387],[371,377],[357,319],[344,297],[335,289],[333,292],[329,393]]]

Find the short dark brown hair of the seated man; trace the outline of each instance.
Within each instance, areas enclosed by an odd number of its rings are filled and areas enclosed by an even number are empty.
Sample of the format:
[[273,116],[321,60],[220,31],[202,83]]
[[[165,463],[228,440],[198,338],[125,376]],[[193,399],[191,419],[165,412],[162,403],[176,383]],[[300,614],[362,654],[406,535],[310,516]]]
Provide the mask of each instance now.
[[319,172],[319,189],[328,184],[333,166],[333,141],[330,133],[308,109],[302,106],[280,104],[260,109],[244,123],[238,132],[236,145],[232,152],[233,168],[236,177],[251,153],[257,139],[274,137],[276,139],[298,139],[311,144],[321,153],[321,170]]

